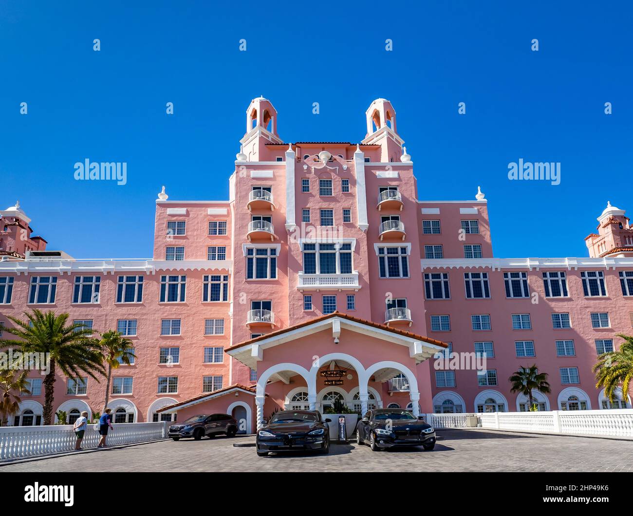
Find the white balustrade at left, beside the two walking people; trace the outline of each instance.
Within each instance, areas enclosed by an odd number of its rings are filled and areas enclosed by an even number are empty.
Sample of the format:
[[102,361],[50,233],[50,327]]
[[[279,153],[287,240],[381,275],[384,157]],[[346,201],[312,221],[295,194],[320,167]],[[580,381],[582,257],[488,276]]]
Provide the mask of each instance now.
[[[167,436],[167,422],[118,423],[108,432],[108,446],[142,443]],[[89,424],[82,448],[96,448],[99,432]],[[27,458],[75,449],[77,437],[72,425],[47,425],[0,428],[0,460]]]

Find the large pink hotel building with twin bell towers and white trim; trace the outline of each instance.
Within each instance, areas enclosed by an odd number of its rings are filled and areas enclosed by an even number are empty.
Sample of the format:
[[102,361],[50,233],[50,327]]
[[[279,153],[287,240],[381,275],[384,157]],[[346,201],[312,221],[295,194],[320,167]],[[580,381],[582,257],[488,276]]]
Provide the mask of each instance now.
[[[596,356],[633,325],[633,227],[610,204],[589,258],[493,258],[487,199],[418,199],[389,101],[367,135],[284,143],[256,98],[227,201],[156,200],[153,260],[75,260],[0,211],[0,324],[32,308],[68,312],[135,344],[113,374],[115,422],[225,412],[242,431],[275,408],[365,412],[526,410],[508,377],[536,363],[540,410],[630,408],[594,386]],[[6,334],[4,337],[7,337]],[[476,353],[485,370],[437,369]],[[444,361],[442,361],[444,362]],[[327,371],[334,371],[328,373]],[[9,424],[41,424],[42,376]],[[70,420],[103,407],[105,382],[56,382]]]

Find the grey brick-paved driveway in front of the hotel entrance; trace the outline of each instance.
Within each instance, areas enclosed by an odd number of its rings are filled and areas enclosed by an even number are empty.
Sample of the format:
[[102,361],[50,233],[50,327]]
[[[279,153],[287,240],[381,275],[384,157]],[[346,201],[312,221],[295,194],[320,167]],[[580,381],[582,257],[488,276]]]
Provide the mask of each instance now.
[[329,455],[291,453],[258,457],[234,443],[254,437],[160,441],[34,462],[9,471],[633,471],[633,441],[542,436],[483,430],[440,430],[433,451],[422,448],[372,453],[355,443],[333,444]]

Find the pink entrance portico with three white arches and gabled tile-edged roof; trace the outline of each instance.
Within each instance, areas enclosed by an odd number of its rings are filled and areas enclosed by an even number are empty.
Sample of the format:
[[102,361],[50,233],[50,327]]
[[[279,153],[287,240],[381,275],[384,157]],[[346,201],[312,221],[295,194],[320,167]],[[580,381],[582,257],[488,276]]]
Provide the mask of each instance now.
[[[299,386],[308,393],[310,410],[321,410],[319,395],[323,398],[325,387],[332,382],[320,372],[332,368],[332,363],[345,367],[346,374],[337,382],[344,393],[357,387],[354,395],[358,394],[361,413],[368,410],[370,388],[379,393],[383,382],[403,374],[409,382],[413,413],[418,415],[416,366],[446,347],[429,337],[334,312],[236,344],[226,352],[258,371],[255,403],[259,428],[265,403],[276,405],[270,405],[272,412],[284,406],[287,394]],[[336,389],[330,387],[330,391]]]

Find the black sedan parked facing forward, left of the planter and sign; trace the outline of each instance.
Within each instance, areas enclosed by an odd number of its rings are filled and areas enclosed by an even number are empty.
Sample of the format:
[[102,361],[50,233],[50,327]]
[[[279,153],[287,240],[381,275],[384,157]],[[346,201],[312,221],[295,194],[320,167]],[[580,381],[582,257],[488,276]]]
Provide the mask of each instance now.
[[330,431],[316,410],[283,410],[257,431],[257,455],[270,451],[330,451]]

